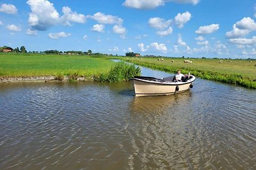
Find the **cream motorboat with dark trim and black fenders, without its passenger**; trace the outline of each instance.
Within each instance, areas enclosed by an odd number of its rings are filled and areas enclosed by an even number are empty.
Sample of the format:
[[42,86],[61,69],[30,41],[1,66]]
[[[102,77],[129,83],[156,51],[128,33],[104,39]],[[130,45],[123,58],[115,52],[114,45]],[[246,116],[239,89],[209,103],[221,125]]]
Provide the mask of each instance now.
[[184,81],[173,81],[174,76],[167,78],[154,78],[148,76],[135,76],[131,78],[135,96],[160,96],[184,92],[193,88],[195,76],[189,75]]

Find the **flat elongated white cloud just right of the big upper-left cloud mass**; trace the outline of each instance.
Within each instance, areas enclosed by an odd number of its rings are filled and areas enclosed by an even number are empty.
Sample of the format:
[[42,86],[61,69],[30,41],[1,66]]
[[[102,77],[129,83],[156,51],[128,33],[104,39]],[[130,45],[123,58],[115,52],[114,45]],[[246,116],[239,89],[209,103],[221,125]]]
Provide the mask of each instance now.
[[105,15],[104,13],[97,12],[93,16],[88,15],[88,18],[92,18],[93,20],[96,20],[100,24],[122,24],[123,20],[122,18],[118,18],[113,15]]

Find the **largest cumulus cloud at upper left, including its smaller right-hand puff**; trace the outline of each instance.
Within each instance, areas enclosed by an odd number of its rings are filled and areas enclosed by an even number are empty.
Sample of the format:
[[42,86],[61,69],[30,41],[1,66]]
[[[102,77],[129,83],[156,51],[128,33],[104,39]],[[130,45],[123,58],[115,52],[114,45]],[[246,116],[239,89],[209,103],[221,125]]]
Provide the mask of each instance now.
[[54,5],[47,0],[28,0],[31,8],[28,23],[33,30],[45,31],[57,24],[71,25],[70,22],[84,23],[82,14],[73,12],[68,6],[62,8],[63,15],[60,16]]

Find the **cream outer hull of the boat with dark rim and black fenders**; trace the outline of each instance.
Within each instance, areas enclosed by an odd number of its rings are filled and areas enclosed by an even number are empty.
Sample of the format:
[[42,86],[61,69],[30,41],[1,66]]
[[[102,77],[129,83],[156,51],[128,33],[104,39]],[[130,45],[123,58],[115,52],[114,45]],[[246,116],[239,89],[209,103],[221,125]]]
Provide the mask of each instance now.
[[187,82],[157,82],[140,78],[132,78],[135,96],[161,96],[177,94],[189,90],[195,80],[193,77]]

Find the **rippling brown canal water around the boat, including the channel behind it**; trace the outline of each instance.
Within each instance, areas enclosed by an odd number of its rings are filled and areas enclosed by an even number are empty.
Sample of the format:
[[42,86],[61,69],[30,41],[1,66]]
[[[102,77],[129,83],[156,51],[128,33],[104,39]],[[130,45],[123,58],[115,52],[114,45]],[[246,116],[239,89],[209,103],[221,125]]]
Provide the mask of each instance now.
[[0,169],[255,169],[255,103],[256,90],[201,79],[159,97],[129,82],[2,83]]

